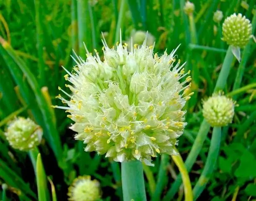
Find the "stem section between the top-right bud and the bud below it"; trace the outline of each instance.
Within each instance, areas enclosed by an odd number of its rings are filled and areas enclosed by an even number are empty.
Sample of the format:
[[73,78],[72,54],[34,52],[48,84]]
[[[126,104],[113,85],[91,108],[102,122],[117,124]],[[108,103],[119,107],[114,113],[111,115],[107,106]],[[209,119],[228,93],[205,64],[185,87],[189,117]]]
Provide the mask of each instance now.
[[231,64],[233,62],[233,58],[234,58],[234,55],[232,53],[231,46],[229,46],[228,51],[225,56],[225,59],[224,59],[224,62],[222,64],[221,70],[220,70],[220,74],[219,74],[217,83],[214,88],[214,92],[223,90],[223,88],[225,87],[225,85],[227,83],[227,79],[228,79],[228,74],[231,69]]

